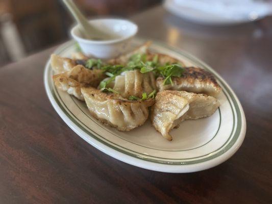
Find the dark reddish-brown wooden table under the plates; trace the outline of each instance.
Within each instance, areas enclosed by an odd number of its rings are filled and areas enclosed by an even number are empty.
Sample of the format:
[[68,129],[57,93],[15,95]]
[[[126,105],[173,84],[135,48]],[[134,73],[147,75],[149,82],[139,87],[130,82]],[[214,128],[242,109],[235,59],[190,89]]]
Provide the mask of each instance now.
[[47,99],[51,48],[0,68],[0,203],[272,203],[272,19],[212,28],[162,7],[132,19],[140,36],[183,48],[226,79],[246,116],[241,148],[217,167],[185,174],[105,155]]

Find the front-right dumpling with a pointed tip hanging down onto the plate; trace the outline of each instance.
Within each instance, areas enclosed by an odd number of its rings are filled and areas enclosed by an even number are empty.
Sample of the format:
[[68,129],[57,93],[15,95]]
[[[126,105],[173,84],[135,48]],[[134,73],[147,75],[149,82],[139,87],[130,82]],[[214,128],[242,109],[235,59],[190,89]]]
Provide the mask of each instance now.
[[186,119],[199,119],[212,115],[219,101],[205,94],[164,90],[157,94],[152,107],[151,121],[157,131],[172,140],[170,130]]

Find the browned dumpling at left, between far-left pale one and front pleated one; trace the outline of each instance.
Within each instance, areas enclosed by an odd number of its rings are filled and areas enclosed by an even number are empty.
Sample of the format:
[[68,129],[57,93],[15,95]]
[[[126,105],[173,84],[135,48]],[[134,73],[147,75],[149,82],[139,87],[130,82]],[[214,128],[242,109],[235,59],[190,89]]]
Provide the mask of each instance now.
[[82,65],[73,67],[70,71],[53,76],[55,86],[67,91],[68,94],[84,100],[81,93],[82,87],[97,87],[105,75],[100,69],[87,69]]

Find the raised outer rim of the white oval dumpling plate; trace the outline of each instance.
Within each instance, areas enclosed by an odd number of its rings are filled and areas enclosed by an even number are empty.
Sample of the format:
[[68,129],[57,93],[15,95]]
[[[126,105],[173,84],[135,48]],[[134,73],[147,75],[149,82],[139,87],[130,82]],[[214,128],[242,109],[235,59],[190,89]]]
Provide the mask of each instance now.
[[[143,42],[144,40],[138,39],[138,41]],[[184,57],[192,60],[194,63],[199,64],[201,67],[209,70],[215,75],[216,79],[222,85],[222,90],[227,96],[229,103],[231,104],[234,121],[231,135],[224,143],[224,145],[222,145],[219,149],[210,152],[208,155],[203,155],[197,158],[179,159],[179,161],[177,161],[177,159],[147,157],[146,155],[142,154],[142,152],[134,152],[130,149],[123,148],[118,144],[112,144],[110,141],[101,139],[103,136],[97,135],[94,130],[88,129],[88,127],[82,124],[75,115],[69,112],[68,108],[60,98],[55,86],[52,84],[52,82],[50,82],[50,79],[52,78],[52,70],[50,61],[48,61],[44,71],[44,84],[47,96],[50,99],[53,107],[61,116],[61,118],[67,123],[67,125],[85,141],[120,161],[138,167],[163,172],[193,172],[208,169],[226,161],[238,150],[245,136],[245,117],[238,98],[231,90],[229,85],[204,62],[175,47],[165,45],[161,42],[153,43],[169,49],[172,52],[183,55]],[[75,42],[69,41],[61,45],[54,53],[60,55],[66,48],[73,46],[74,44]]]

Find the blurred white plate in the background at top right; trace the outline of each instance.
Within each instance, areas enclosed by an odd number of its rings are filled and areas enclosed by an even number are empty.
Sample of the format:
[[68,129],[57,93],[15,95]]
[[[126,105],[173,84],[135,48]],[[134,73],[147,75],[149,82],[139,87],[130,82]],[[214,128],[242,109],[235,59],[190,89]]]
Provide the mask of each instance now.
[[169,12],[206,25],[251,22],[272,13],[272,3],[254,0],[166,0]]

